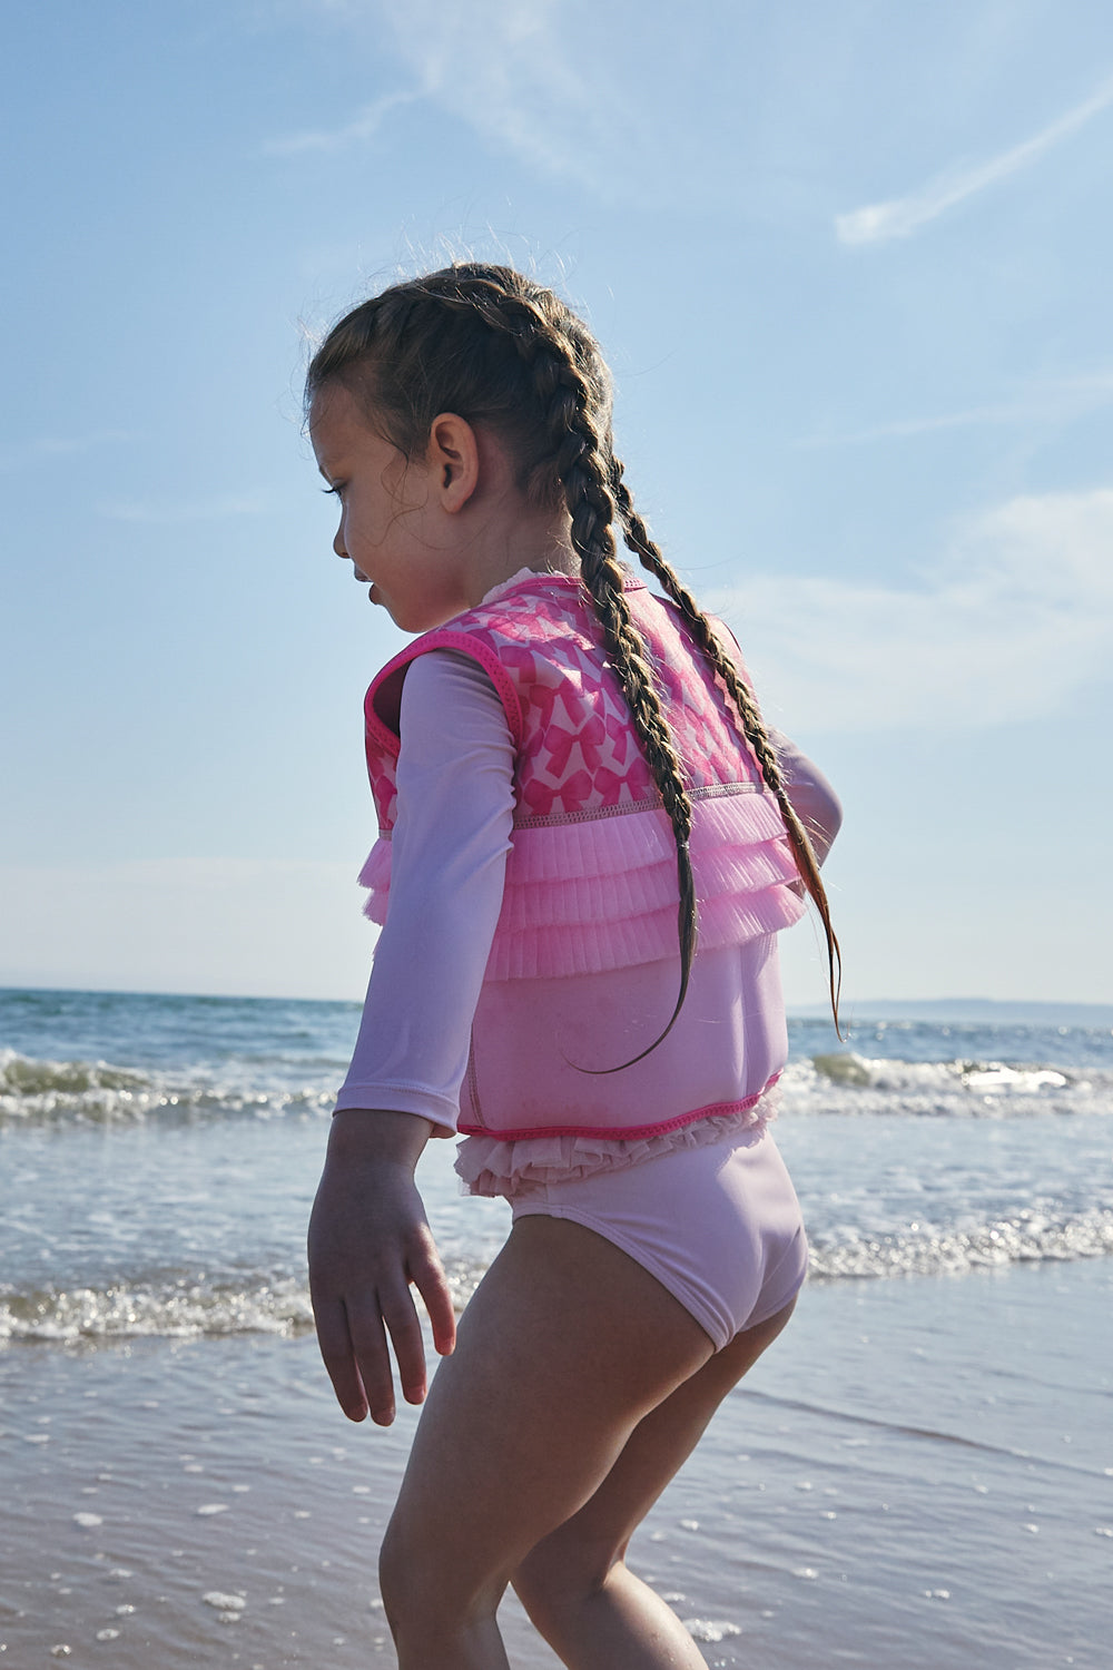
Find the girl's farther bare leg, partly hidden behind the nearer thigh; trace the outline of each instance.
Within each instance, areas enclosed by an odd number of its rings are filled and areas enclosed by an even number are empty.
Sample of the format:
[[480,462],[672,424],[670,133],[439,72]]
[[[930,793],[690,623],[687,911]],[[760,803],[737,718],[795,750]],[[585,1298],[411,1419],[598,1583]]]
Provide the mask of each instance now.
[[704,1670],[676,1613],[627,1570],[626,1548],[726,1393],[776,1339],[794,1304],[738,1334],[652,1409],[591,1501],[514,1573],[526,1610],[569,1670]]

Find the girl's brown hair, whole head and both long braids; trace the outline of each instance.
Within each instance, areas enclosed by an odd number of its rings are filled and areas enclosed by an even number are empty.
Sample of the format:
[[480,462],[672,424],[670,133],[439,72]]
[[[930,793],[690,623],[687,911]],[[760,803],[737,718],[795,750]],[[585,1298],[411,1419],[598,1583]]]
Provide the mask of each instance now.
[[511,267],[461,262],[395,284],[342,317],[310,361],[307,407],[332,382],[349,389],[370,426],[407,459],[424,453],[432,419],[442,411],[486,424],[516,463],[517,486],[527,499],[554,514],[567,511],[607,660],[676,837],[679,995],[661,1037],[632,1060],[656,1049],[676,1024],[687,995],[698,920],[689,850],[692,807],[646,645],[626,603],[616,526],[677,605],[692,643],[731,698],[728,708],[739,738],[753,750],[766,788],[778,798],[801,882],[823,922],[838,1030],[839,945],[811,840],[788,798],[753,693],[634,509],[614,456],[611,374],[584,322],[552,291]]

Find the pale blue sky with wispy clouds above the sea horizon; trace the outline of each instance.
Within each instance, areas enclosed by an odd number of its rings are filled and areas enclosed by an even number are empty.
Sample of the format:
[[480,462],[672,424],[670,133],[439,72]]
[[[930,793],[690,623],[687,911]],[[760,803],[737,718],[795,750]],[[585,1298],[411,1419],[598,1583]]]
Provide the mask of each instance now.
[[299,384],[476,254],[589,317],[641,508],[839,788],[851,1004],[1113,1000],[1103,0],[58,0],[5,43],[0,982],[362,994],[402,640]]

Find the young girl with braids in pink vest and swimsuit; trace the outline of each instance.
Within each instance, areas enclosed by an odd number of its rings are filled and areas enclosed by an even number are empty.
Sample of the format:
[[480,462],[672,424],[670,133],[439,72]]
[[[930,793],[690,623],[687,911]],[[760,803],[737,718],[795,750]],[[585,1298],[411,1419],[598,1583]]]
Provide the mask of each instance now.
[[[834,982],[838,802],[649,538],[552,292],[399,284],[330,331],[307,404],[334,549],[422,635],[367,693],[382,934],[309,1241],[350,1420],[394,1418],[387,1336],[426,1396],[410,1286],[447,1358],[382,1548],[399,1665],[504,1667],[512,1583],[576,1670],[701,1670],[626,1548],[804,1279],[766,1131],[776,930],[811,893]],[[459,1339],[414,1186],[456,1129],[514,1209]]]

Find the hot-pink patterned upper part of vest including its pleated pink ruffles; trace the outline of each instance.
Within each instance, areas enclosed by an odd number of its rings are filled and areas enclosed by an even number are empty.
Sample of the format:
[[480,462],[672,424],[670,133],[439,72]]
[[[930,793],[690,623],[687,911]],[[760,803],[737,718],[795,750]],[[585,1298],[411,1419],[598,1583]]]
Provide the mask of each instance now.
[[[687,775],[699,945],[774,934],[804,910],[776,797],[679,611],[632,574],[624,590]],[[713,625],[736,656],[728,630]],[[387,920],[402,681],[410,661],[432,650],[466,655],[487,671],[514,741],[514,827],[484,990],[499,980],[677,959],[672,825],[591,600],[562,574],[526,574],[499,588],[410,643],[370,685],[365,746],[379,840],[360,872],[370,888],[365,913]],[[467,1101],[466,1082],[461,1131],[491,1129],[467,1122]]]

